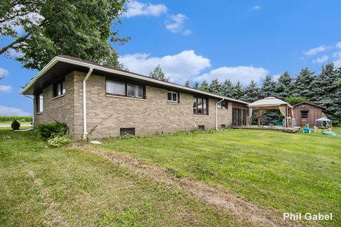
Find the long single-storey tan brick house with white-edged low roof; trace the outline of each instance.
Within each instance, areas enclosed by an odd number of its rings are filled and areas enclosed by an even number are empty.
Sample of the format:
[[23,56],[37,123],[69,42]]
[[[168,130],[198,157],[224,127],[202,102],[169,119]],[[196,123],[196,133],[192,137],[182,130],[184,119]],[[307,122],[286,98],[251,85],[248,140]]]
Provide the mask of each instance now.
[[[23,88],[34,126],[67,123],[75,137],[222,129],[247,122],[247,102],[58,55]],[[232,116],[233,115],[233,116]]]

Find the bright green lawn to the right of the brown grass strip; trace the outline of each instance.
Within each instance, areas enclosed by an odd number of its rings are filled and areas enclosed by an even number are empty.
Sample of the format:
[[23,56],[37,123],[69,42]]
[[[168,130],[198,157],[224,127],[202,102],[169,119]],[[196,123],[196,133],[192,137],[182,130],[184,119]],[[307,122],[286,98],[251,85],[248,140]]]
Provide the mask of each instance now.
[[[340,132],[340,128],[334,128]],[[341,135],[227,130],[108,139],[100,148],[168,168],[283,212],[341,225]]]

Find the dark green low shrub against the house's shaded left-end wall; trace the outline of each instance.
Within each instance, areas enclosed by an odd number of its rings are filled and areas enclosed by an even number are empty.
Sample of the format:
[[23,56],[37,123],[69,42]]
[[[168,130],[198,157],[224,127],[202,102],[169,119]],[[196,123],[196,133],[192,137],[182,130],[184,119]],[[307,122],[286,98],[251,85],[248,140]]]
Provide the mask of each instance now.
[[41,138],[48,140],[53,133],[67,135],[69,128],[66,123],[55,121],[54,123],[40,123],[37,126]]

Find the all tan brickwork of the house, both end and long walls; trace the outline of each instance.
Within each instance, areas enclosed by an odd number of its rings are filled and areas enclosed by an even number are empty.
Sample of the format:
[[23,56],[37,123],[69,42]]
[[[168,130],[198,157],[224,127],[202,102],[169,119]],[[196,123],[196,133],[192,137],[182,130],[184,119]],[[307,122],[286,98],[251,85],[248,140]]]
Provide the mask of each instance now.
[[[70,133],[82,137],[82,79],[85,73],[72,72],[66,79],[65,96],[52,99],[52,85],[43,90],[43,114],[35,115],[35,124],[53,119],[66,122]],[[146,86],[146,99],[109,96],[105,93],[105,77],[92,74],[87,80],[87,131],[92,138],[119,136],[120,128],[135,128],[136,135],[193,131],[204,125],[215,129],[215,104],[209,99],[209,114],[193,114],[193,94],[180,92],[180,103],[167,101],[167,90]],[[36,108],[35,108],[36,111]],[[218,128],[232,125],[232,103],[218,109]]]

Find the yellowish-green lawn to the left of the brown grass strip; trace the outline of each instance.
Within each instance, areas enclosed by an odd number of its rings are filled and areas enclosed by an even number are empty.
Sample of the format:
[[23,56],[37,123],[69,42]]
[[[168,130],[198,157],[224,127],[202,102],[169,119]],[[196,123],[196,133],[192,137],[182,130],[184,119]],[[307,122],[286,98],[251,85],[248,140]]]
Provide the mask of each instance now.
[[[11,138],[3,138],[10,136]],[[180,189],[0,128],[0,226],[239,226]]]

